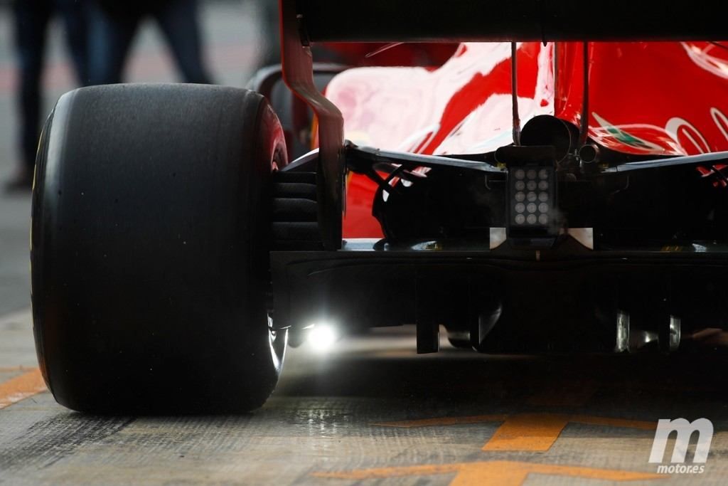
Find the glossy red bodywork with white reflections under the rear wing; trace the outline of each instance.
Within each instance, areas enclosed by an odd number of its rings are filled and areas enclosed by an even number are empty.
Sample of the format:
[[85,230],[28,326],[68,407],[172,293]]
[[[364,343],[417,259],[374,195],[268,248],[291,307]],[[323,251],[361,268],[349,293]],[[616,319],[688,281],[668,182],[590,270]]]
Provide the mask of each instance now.
[[[518,44],[521,121],[579,125],[581,43]],[[728,50],[709,42],[589,45],[589,136],[630,154],[728,150]],[[328,85],[355,144],[419,154],[488,152],[512,141],[510,44],[460,44],[436,69],[355,68]],[[375,185],[352,176],[344,238],[379,238]]]

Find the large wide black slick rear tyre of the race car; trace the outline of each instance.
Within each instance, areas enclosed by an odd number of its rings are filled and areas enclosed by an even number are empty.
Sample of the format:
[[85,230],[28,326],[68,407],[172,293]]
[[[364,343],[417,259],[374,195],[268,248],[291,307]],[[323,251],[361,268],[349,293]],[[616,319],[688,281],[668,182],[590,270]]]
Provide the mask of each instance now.
[[36,348],[84,412],[260,407],[270,326],[269,182],[280,122],[247,90],[111,85],[63,95],[41,137],[31,267]]

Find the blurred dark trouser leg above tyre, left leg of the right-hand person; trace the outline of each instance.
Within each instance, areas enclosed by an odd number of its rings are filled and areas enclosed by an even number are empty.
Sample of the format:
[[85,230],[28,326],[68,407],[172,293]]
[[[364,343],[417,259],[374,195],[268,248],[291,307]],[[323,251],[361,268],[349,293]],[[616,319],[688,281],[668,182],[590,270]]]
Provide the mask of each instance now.
[[141,12],[113,1],[88,2],[88,83],[113,85],[122,82],[129,48]]

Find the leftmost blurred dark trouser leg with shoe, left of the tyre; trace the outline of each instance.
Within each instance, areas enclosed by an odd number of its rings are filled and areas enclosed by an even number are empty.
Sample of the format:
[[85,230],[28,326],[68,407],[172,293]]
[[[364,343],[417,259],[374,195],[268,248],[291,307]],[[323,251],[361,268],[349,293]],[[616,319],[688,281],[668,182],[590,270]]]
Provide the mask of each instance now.
[[28,189],[33,184],[33,168],[40,134],[41,74],[43,71],[46,31],[52,16],[51,0],[17,0],[15,44],[19,72],[20,150],[22,165],[7,190]]

